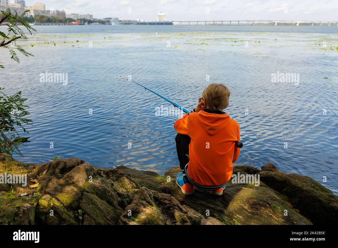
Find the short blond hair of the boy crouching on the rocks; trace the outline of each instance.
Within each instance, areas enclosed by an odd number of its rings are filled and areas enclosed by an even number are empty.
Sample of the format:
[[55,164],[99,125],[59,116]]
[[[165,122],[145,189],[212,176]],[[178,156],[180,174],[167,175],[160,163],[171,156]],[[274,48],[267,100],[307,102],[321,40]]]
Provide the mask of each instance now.
[[230,89],[224,84],[209,84],[203,90],[202,97],[208,108],[223,110],[229,105]]

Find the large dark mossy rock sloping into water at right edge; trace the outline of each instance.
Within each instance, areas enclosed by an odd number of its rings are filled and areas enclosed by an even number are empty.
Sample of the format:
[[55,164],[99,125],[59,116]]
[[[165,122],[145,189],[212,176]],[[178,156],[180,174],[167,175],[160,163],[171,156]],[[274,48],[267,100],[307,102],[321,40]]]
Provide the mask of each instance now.
[[338,196],[310,177],[262,171],[261,181],[287,196],[288,202],[314,224],[338,223]]

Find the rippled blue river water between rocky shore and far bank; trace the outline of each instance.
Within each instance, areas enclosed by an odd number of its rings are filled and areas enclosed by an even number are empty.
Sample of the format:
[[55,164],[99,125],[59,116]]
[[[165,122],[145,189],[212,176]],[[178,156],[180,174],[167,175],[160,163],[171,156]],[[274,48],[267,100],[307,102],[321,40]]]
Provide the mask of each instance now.
[[[158,116],[156,107],[169,103],[116,75],[131,75],[187,109],[209,83],[225,83],[232,91],[226,112],[240,123],[244,143],[235,164],[272,162],[338,193],[336,27],[36,28],[18,42],[35,57],[17,64],[0,51],[10,68],[1,71],[0,87],[22,90],[34,120],[31,142],[16,159],[42,163],[62,154],[163,173],[178,165],[178,116]],[[67,73],[68,84],[40,82],[46,71]],[[299,85],[271,82],[277,72],[299,73]]]

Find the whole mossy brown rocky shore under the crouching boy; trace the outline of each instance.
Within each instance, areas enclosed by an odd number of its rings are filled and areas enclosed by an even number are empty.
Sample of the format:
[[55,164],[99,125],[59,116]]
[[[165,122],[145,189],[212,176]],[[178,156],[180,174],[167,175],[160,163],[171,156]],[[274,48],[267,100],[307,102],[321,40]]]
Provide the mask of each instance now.
[[262,171],[235,166],[234,174],[260,176],[260,184],[230,180],[220,197],[197,188],[184,196],[175,181],[178,166],[161,176],[125,166],[102,169],[78,158],[24,164],[0,154],[0,173],[4,171],[27,173],[41,188],[30,188],[33,182],[26,187],[1,184],[0,224],[337,223],[337,196],[311,178],[283,173],[271,163]]

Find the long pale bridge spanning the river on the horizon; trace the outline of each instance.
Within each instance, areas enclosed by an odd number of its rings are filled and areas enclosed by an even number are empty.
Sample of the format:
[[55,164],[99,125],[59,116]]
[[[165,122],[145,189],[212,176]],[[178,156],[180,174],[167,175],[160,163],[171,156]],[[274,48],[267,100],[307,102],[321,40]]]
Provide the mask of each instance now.
[[338,22],[332,22],[332,21],[173,21],[174,24],[179,25],[255,25],[259,23],[273,23],[275,26],[277,26],[278,23],[291,23],[295,24],[296,26],[299,26],[299,23],[305,23],[305,24],[311,24],[311,26],[314,26],[317,24],[319,26],[338,26]]

